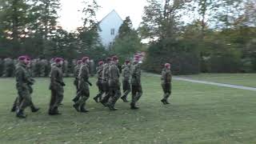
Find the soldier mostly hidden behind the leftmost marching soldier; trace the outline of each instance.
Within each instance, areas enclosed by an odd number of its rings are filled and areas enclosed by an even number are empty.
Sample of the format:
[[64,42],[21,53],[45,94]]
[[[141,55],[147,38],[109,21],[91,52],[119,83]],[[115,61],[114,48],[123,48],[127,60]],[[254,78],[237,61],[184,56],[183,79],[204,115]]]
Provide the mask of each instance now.
[[[30,58],[28,58],[30,60]],[[16,67],[18,66],[18,64],[16,65]],[[30,95],[33,93],[33,88],[32,85],[34,83],[34,79],[32,78],[32,70],[31,70],[31,61],[29,62],[29,64],[26,65],[26,69],[28,71],[28,74],[31,78],[31,83],[28,84],[29,90],[30,90]],[[33,83],[32,83],[33,82]],[[20,104],[20,102],[22,102],[22,98],[21,97],[17,97],[14,101],[13,107],[11,109],[11,112],[14,112],[16,110],[18,110],[18,106]],[[31,105],[30,105],[30,109],[33,113],[37,112],[38,110],[40,110],[40,108],[34,106],[34,103],[31,101]]]

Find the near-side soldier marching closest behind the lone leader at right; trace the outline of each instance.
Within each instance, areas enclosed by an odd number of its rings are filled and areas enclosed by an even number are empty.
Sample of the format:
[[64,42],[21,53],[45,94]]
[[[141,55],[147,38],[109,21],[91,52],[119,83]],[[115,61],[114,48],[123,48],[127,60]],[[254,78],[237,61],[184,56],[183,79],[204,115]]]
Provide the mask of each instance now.
[[130,109],[138,109],[136,102],[142,97],[142,84],[141,84],[141,67],[139,63],[139,57],[134,58],[134,63],[131,68],[131,93],[132,100],[130,103]]

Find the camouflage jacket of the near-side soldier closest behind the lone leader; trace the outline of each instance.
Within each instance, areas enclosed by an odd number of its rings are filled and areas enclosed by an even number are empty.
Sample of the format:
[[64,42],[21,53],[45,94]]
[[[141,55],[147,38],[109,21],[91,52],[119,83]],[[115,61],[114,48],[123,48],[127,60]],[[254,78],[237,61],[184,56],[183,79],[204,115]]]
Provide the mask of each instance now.
[[141,67],[139,63],[134,63],[131,67],[131,84],[134,86],[141,85]]

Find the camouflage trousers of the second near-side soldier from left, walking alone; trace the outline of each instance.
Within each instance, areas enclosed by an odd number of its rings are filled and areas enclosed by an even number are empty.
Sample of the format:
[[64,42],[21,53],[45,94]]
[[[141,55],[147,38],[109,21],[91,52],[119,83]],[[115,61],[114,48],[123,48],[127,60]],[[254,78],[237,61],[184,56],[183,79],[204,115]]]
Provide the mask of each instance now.
[[50,111],[54,111],[54,109],[58,108],[62,103],[64,97],[64,89],[63,87],[58,87],[58,89],[51,90],[51,97],[50,97]]

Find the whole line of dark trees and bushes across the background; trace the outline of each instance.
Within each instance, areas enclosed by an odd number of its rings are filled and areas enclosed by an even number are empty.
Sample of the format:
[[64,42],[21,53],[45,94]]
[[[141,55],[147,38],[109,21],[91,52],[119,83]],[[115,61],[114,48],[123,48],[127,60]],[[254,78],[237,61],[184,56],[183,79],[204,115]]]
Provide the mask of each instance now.
[[[143,68],[159,73],[165,62],[174,74],[254,72],[254,0],[147,0],[142,23],[122,24],[110,50],[98,37],[94,0],[84,0],[83,26],[67,32],[58,26],[59,0],[0,0],[0,58],[90,56],[95,62],[118,54],[121,62],[145,51]],[[142,44],[141,40],[147,41]]]

